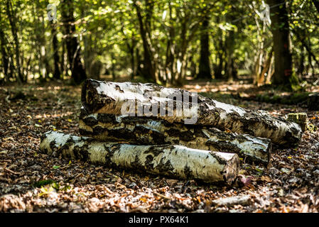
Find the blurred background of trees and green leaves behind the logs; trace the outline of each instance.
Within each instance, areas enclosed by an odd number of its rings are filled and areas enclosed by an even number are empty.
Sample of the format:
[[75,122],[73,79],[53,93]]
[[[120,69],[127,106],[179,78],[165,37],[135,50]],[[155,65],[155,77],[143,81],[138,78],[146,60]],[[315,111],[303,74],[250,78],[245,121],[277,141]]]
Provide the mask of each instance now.
[[2,0],[0,80],[298,89],[318,83],[318,24],[318,0]]

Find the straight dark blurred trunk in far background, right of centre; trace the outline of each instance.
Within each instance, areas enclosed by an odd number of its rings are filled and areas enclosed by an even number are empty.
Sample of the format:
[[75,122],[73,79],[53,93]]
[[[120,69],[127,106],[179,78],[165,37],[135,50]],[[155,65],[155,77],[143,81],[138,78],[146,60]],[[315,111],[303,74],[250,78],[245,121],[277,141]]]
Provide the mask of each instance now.
[[202,34],[200,35],[200,66],[198,78],[212,79],[210,73],[210,36],[208,33],[210,19],[205,16],[202,21]]

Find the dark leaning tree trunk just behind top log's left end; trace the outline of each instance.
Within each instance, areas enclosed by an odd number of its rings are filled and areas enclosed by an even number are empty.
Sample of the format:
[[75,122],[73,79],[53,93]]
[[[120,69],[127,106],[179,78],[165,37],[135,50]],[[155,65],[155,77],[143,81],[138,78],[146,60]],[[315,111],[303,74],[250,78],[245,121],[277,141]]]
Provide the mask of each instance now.
[[87,75],[81,62],[80,43],[78,43],[77,37],[75,36],[75,18],[73,16],[74,6],[72,0],[61,0],[61,5],[61,15],[66,35],[65,44],[67,47],[67,59],[70,64],[72,79],[76,84],[80,84],[87,78]]

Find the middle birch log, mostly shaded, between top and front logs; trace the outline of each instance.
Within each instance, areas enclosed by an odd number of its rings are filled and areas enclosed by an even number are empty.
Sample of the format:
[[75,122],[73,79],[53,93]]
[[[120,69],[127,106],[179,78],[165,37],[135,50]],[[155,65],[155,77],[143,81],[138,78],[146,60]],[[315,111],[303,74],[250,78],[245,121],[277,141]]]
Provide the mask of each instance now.
[[226,133],[217,128],[185,126],[143,117],[90,114],[81,109],[80,134],[104,141],[136,145],[183,145],[200,150],[237,153],[245,160],[269,164],[271,141],[252,135]]

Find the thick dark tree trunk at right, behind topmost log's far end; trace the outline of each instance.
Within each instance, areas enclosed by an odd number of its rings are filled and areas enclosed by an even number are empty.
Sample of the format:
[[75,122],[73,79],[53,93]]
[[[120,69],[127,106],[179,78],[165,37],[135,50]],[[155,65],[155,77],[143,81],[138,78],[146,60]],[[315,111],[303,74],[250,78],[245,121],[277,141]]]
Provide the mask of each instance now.
[[289,35],[288,11],[285,0],[268,0],[270,6],[271,32],[274,40],[275,72],[274,84],[291,85],[293,76],[291,41]]

